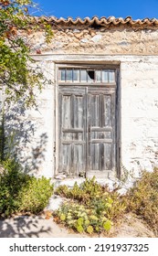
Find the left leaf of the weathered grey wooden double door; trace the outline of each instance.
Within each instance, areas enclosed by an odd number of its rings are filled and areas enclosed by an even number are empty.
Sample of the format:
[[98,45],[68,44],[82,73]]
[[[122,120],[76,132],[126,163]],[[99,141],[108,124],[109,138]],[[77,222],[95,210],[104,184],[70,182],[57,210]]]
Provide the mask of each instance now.
[[59,165],[68,176],[86,173],[86,89],[59,89]]

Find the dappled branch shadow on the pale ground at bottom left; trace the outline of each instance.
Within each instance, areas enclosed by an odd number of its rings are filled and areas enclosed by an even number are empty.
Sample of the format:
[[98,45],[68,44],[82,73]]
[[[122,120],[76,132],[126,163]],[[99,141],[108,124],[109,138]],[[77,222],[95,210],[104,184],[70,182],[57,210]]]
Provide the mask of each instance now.
[[[0,219],[0,238],[39,238],[47,237],[52,231],[40,216],[18,216]],[[45,223],[45,224],[44,224]]]

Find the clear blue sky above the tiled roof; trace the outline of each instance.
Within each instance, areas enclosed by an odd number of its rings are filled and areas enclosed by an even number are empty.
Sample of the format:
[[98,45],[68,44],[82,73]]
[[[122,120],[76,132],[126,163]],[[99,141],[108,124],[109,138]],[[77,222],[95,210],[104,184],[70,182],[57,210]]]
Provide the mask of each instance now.
[[41,8],[40,12],[34,13],[37,16],[158,18],[158,0],[34,0],[34,2]]

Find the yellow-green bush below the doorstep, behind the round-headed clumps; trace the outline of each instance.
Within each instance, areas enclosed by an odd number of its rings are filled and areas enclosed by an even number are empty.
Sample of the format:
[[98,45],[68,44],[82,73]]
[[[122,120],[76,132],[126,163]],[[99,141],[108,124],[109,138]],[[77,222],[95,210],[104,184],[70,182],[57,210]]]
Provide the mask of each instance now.
[[96,212],[106,212],[106,216],[112,220],[120,219],[125,211],[126,204],[117,190],[120,187],[115,187],[110,192],[107,186],[100,186],[96,182],[95,176],[91,179],[86,179],[80,186],[75,183],[74,187],[59,186],[55,191],[56,194],[71,199],[78,200],[82,204],[95,208]]

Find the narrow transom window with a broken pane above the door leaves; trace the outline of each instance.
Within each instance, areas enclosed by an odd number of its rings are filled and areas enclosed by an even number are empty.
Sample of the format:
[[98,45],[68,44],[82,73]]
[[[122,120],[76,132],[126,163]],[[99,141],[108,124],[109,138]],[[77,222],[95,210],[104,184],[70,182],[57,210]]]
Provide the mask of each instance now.
[[60,83],[115,83],[115,69],[58,69]]

